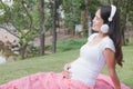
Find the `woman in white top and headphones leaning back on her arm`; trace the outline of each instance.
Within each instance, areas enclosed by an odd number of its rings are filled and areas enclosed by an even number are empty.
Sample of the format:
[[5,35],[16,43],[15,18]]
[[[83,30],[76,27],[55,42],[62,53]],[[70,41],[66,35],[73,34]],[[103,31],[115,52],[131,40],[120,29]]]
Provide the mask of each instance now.
[[64,67],[64,76],[68,78],[68,72],[71,72],[72,79],[81,80],[93,88],[96,77],[106,63],[115,89],[121,89],[115,72],[115,65],[122,66],[123,61],[120,14],[115,6],[103,6],[96,11],[93,19],[93,30],[98,33],[89,37],[86,44],[81,48],[79,59]]

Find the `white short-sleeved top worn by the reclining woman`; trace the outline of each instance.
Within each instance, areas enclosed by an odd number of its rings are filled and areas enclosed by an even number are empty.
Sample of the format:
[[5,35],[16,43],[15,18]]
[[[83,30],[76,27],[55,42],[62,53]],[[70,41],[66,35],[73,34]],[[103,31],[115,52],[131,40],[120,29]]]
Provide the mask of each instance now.
[[105,65],[103,50],[110,48],[115,52],[115,47],[110,37],[103,38],[98,44],[89,46],[89,42],[98,33],[89,37],[88,42],[81,47],[80,57],[71,63],[70,72],[71,78],[81,80],[84,83],[93,87],[98,75],[101,72]]

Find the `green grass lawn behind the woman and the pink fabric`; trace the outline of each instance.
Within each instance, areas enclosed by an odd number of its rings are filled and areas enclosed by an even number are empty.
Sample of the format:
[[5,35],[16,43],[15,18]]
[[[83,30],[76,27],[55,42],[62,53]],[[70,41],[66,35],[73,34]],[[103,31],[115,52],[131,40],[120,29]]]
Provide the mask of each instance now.
[[[125,62],[116,71],[120,80],[133,89],[133,46],[123,47],[123,53]],[[35,72],[61,72],[64,63],[73,61],[78,56],[79,50],[70,50],[0,65],[0,85]],[[106,73],[106,69],[103,72]]]

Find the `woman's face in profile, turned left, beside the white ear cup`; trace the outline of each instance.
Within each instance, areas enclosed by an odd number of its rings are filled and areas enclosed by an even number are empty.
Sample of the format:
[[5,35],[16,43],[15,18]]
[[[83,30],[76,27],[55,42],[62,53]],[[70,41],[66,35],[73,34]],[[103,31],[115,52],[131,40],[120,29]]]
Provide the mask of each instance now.
[[94,31],[100,31],[101,26],[103,24],[103,19],[100,16],[100,9],[96,11],[95,17],[93,19],[92,29]]

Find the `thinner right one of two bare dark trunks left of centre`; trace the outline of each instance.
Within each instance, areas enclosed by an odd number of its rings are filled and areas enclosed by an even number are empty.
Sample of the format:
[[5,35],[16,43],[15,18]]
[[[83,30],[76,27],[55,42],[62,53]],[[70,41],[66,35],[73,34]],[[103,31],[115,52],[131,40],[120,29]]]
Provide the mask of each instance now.
[[55,53],[57,51],[57,0],[54,0],[53,2],[53,11],[52,11],[52,17],[53,17],[53,20],[52,20],[52,28],[53,28],[53,39],[52,39],[52,53]]

